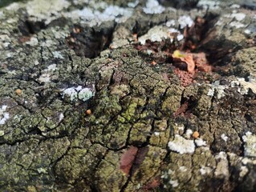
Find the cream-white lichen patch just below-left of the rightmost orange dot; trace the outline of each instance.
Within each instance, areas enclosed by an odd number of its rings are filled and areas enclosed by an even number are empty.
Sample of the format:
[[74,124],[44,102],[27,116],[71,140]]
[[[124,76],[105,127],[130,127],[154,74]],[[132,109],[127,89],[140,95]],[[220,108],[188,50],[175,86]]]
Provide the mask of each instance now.
[[193,140],[188,140],[176,134],[174,140],[168,143],[169,149],[179,154],[193,154],[195,144]]

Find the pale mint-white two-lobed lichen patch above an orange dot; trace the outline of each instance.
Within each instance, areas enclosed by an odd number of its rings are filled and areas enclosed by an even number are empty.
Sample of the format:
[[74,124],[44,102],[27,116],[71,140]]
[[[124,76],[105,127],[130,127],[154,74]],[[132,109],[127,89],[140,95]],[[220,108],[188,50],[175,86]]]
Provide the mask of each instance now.
[[90,88],[83,88],[82,86],[73,86],[67,89],[63,89],[63,98],[66,96],[70,97],[71,102],[82,100],[83,102],[87,101],[91,97],[93,97],[95,94],[94,89]]

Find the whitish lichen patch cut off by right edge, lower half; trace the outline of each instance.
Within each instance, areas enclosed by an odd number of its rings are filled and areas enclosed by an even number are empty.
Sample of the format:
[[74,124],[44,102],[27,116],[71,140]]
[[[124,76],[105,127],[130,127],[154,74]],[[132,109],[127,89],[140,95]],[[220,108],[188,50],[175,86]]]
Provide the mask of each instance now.
[[242,140],[245,142],[245,156],[256,157],[256,135],[248,131],[242,136]]

